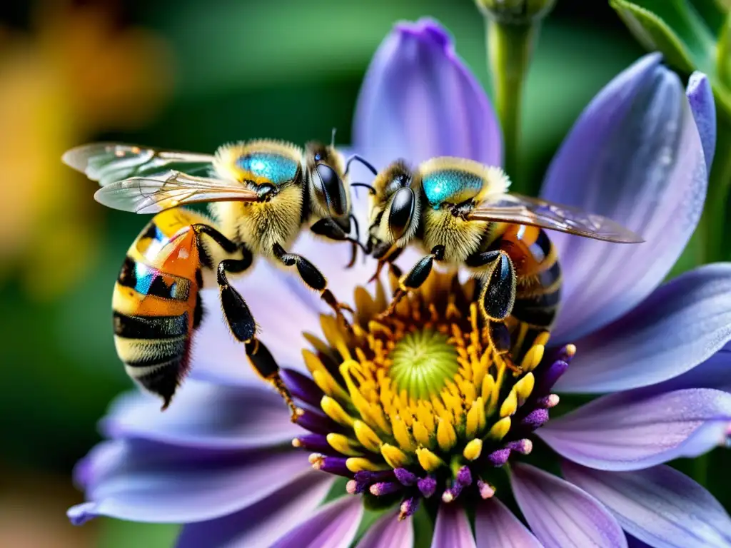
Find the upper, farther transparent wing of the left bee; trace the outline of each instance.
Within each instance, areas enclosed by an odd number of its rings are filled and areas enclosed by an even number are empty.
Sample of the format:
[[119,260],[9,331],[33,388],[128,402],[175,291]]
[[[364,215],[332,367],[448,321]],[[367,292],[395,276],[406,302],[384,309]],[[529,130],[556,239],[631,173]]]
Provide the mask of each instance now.
[[131,177],[157,177],[171,170],[208,175],[213,156],[192,152],[158,151],[137,145],[96,142],[72,148],[61,157],[64,164],[107,186]]

